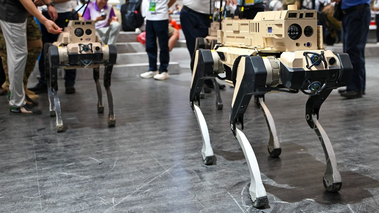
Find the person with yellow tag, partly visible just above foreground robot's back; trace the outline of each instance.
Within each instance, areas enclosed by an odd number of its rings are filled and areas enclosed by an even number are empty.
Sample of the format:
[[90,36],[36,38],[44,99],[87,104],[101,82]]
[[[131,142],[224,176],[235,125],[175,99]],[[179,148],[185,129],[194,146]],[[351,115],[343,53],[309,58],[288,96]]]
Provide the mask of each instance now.
[[[235,16],[240,17],[242,9],[242,1],[238,0],[237,9],[234,12]],[[265,5],[263,0],[245,0],[245,6],[243,10],[243,19],[254,19],[258,12],[265,11]],[[241,18],[241,17],[240,17]]]

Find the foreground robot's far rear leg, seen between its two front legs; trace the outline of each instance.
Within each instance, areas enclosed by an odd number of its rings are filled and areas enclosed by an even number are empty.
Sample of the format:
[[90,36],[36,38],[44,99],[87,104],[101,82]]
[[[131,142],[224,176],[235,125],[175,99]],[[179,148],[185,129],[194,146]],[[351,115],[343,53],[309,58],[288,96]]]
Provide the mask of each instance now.
[[280,148],[280,143],[278,135],[276,133],[276,127],[274,118],[270,113],[270,110],[265,104],[265,95],[256,95],[254,96],[254,102],[257,107],[259,107],[263,115],[265,116],[268,131],[270,133],[270,139],[268,141],[267,150],[271,157],[278,157],[282,153],[282,148]]

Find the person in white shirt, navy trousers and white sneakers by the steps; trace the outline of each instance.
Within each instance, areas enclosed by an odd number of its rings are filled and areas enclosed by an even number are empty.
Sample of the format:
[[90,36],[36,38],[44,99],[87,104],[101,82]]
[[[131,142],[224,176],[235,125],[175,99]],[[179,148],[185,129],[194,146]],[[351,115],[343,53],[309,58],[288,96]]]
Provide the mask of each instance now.
[[[149,10],[146,14],[146,52],[149,56],[149,71],[141,74],[141,78],[154,77],[156,80],[164,80],[169,77],[168,64],[170,61],[169,55],[169,33],[168,9],[175,3],[176,0],[149,0]],[[157,67],[157,37],[159,42],[159,72]]]

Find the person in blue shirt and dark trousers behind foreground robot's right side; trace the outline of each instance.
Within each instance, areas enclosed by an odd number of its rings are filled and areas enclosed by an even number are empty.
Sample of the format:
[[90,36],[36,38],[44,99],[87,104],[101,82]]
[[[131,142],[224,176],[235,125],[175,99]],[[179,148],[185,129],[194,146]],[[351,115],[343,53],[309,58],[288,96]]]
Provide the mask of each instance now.
[[346,89],[340,89],[342,97],[355,99],[365,94],[366,69],[365,45],[371,21],[371,0],[332,0],[341,4],[343,52],[348,53],[353,72]]

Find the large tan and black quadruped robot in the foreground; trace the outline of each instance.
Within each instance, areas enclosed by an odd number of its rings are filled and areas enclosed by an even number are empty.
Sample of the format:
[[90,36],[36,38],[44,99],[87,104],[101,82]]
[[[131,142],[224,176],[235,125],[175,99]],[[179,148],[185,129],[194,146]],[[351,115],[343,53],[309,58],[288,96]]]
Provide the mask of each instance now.
[[[264,94],[272,92],[308,95],[305,119],[316,132],[326,157],[323,184],[326,191],[337,192],[342,186],[333,147],[318,122],[319,109],[330,92],[346,86],[352,65],[346,53],[325,50],[322,26],[317,26],[316,10],[298,10],[296,5],[285,11],[260,12],[254,20],[224,19],[217,31],[218,44],[214,50],[196,51],[190,90],[190,106],[196,114],[203,139],[202,158],[213,163],[208,128],[199,108],[200,91],[205,79],[220,78],[234,86],[230,129],[240,143],[251,175],[249,195],[254,207],[268,203],[254,151],[243,130],[247,106],[255,96],[255,103],[264,113]],[[219,74],[225,73],[221,78]],[[198,105],[195,103],[197,102]],[[275,130],[273,119],[267,116],[270,130]],[[272,123],[271,123],[272,121]],[[236,125],[241,125],[241,129]],[[273,140],[271,140],[273,136]],[[270,131],[268,151],[271,156],[281,152],[276,131]]]

